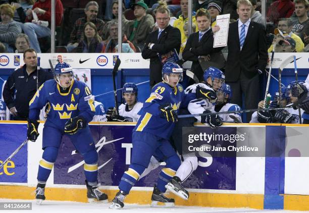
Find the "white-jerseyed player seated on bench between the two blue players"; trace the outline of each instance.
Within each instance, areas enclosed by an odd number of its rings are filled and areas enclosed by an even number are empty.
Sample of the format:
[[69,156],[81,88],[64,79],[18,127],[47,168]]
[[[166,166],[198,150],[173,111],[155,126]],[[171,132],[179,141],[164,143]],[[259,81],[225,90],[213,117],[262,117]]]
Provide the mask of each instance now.
[[113,115],[111,108],[108,110],[108,121],[137,122],[140,117],[139,111],[143,107],[143,103],[137,101],[137,94],[138,88],[134,83],[125,83],[122,88],[122,97],[125,103],[119,106],[119,115]]

